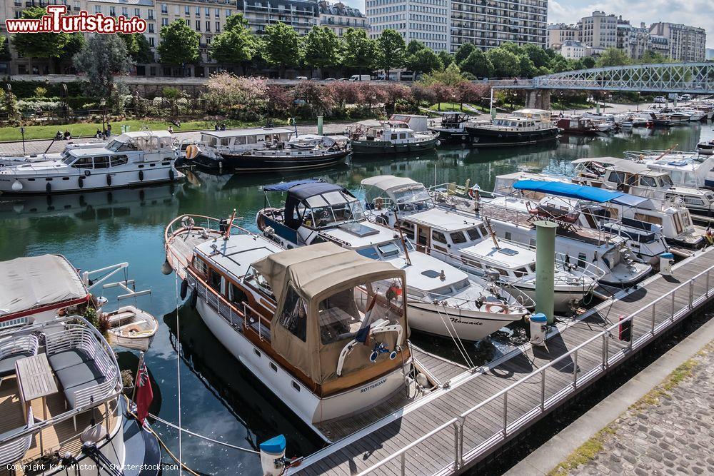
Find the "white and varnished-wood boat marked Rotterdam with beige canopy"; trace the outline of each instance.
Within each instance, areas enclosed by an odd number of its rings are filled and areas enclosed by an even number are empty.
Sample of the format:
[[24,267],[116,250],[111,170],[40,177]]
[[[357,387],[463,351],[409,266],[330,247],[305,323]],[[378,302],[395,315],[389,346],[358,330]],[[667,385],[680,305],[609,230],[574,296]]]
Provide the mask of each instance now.
[[285,250],[219,223],[172,221],[168,263],[211,333],[298,417],[323,435],[321,423],[406,390],[403,270],[333,243]]

